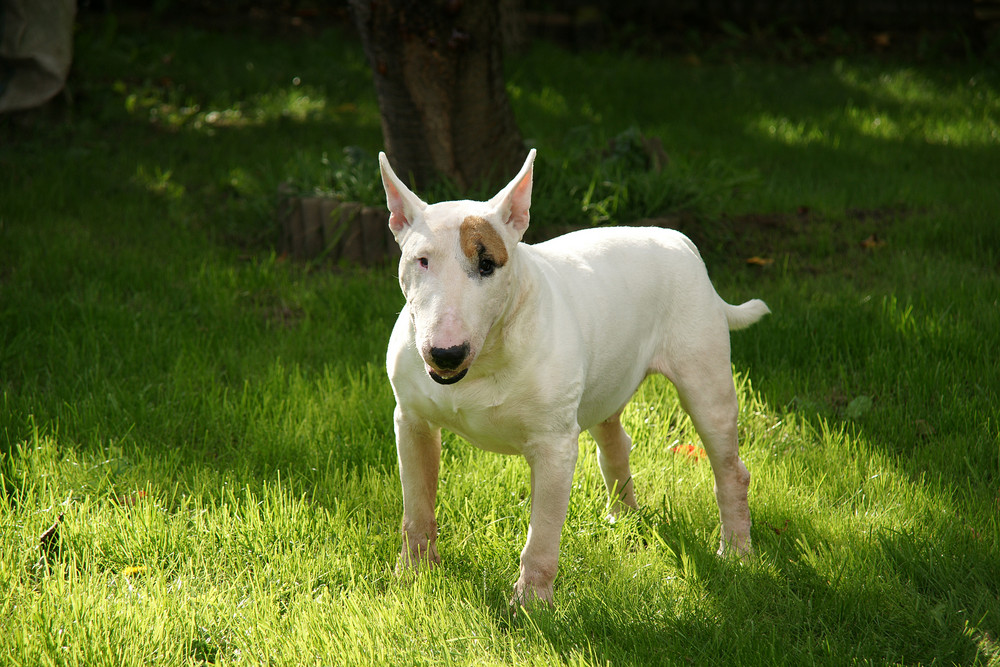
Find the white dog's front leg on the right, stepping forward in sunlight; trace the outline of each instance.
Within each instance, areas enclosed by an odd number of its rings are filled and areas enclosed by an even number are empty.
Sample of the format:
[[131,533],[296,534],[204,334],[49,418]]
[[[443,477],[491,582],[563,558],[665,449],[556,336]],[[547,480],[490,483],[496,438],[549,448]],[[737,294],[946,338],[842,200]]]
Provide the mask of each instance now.
[[531,466],[531,520],[512,605],[530,606],[536,600],[549,606],[555,604],[552,585],[559,569],[559,539],[569,509],[578,452],[578,434],[555,445],[526,451]]

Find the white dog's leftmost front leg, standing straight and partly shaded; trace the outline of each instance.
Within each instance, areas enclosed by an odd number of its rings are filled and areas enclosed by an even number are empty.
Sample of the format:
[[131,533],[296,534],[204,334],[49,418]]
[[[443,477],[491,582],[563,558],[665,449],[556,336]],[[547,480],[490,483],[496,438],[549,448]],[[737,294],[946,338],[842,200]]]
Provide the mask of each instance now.
[[441,465],[441,429],[398,406],[395,413],[396,454],[403,485],[403,548],[397,571],[417,569],[420,563],[441,562],[437,553],[437,498]]

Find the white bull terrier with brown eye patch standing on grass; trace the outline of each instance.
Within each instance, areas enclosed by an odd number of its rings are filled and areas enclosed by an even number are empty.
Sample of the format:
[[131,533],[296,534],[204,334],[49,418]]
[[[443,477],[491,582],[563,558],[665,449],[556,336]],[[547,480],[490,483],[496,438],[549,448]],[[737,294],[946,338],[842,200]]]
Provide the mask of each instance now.
[[531,519],[513,603],[552,604],[578,438],[589,430],[611,516],[637,507],[620,416],[643,378],[676,385],[708,452],[719,553],[750,551],[750,474],[738,455],[729,331],[767,314],[724,302],[679,232],[601,228],[521,243],[532,150],[487,202],[428,205],[379,155],[406,306],[386,365],[403,485],[400,565],[440,561],[441,427],[531,467]]

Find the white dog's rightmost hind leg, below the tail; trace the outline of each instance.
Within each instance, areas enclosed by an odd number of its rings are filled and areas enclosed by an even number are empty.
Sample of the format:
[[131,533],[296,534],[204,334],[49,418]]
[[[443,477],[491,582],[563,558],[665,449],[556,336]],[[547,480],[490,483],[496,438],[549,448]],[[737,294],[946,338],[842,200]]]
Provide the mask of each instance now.
[[719,504],[722,539],[719,554],[749,553],[750,507],[747,491],[750,473],[739,457],[736,419],[739,405],[729,361],[728,337],[725,349],[706,350],[685,357],[668,377],[677,387],[681,405],[691,416],[701,436],[715,475],[715,499]]

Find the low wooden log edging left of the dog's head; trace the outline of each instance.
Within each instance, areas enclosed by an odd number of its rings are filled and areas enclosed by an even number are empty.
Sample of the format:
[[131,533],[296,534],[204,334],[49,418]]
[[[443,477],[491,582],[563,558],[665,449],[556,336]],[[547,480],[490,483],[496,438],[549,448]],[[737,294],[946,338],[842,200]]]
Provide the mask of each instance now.
[[399,259],[389,211],[335,197],[284,194],[278,217],[283,250],[295,259],[379,266]]

